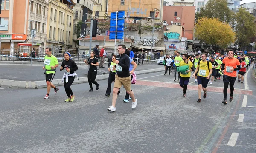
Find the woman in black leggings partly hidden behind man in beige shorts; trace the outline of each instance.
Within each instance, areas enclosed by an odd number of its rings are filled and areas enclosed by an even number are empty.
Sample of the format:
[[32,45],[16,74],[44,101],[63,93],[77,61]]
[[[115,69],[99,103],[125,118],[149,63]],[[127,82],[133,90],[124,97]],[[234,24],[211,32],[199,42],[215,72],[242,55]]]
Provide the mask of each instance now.
[[[110,92],[111,92],[111,84],[112,82],[115,82],[115,79],[116,79],[116,55],[112,55],[112,62],[108,68],[108,71],[109,71],[109,76],[108,76],[108,88],[106,90],[106,94],[105,96],[108,96],[110,95]],[[117,95],[120,94],[120,90],[118,91]]]

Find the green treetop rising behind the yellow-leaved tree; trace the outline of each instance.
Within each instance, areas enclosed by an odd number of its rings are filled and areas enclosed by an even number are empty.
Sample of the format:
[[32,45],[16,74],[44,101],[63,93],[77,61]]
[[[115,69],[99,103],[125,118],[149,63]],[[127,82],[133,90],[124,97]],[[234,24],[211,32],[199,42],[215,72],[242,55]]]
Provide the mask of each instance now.
[[232,20],[232,12],[227,7],[227,0],[209,0],[200,8],[200,13],[195,14],[196,22],[202,17],[218,18],[222,22],[229,23]]

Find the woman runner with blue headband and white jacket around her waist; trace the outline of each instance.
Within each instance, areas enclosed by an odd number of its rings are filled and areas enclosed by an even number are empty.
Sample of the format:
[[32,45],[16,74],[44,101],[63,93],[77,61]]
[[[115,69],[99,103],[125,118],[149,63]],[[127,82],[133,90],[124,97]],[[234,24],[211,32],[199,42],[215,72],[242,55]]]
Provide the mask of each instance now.
[[62,77],[62,81],[64,81],[64,88],[67,94],[67,99],[65,102],[74,102],[75,96],[70,88],[72,83],[75,80],[75,77],[77,77],[76,70],[78,70],[78,67],[76,63],[72,60],[70,53],[66,52],[64,54],[64,61],[61,64],[60,70],[64,70],[64,75]]

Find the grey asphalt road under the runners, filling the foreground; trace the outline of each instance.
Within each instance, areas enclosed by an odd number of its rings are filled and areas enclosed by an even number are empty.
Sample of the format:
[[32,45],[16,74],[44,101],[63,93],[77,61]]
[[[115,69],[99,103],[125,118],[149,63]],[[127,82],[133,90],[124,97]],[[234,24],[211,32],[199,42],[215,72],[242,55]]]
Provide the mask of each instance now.
[[[228,105],[221,103],[222,80],[208,85],[206,99],[197,103],[194,79],[182,98],[173,73],[138,75],[132,85],[137,108],[122,102],[121,88],[115,113],[107,111],[107,80],[99,81],[100,89],[93,92],[88,83],[72,85],[74,103],[64,102],[63,86],[47,100],[45,88],[0,88],[0,152],[255,153],[256,83],[250,73],[249,90],[236,83]],[[247,105],[241,107],[244,96]]]

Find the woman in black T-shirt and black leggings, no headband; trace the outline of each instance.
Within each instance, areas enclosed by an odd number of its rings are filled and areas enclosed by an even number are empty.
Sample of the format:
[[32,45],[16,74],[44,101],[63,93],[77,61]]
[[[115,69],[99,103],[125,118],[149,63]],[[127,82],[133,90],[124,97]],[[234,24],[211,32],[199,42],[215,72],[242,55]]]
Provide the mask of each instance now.
[[[99,84],[95,81],[96,76],[97,76],[97,66],[99,66],[98,59],[95,57],[94,51],[90,52],[90,58],[88,61],[85,59],[84,62],[86,65],[89,65],[89,70],[88,70],[88,83],[90,85],[90,90],[89,92],[93,91],[93,84],[96,85],[96,90],[99,90]],[[92,84],[93,83],[93,84]]]

